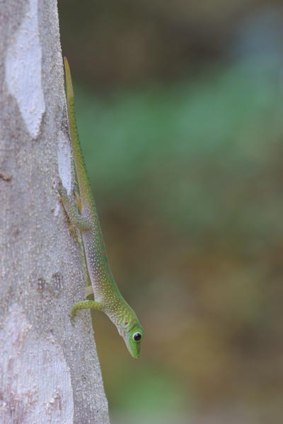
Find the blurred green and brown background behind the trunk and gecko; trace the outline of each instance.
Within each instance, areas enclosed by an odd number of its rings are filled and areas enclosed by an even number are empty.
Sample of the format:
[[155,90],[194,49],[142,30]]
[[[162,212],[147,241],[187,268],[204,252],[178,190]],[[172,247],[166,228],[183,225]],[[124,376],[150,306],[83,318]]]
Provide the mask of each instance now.
[[282,424],[283,5],[59,0],[108,256],[112,424]]

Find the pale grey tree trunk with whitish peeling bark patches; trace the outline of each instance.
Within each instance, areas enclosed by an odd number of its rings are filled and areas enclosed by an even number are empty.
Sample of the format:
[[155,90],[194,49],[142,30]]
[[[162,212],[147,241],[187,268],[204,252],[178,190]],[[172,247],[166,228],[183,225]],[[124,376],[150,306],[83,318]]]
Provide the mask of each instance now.
[[[79,7],[79,4],[78,4]],[[0,6],[0,423],[109,423],[80,237],[56,0]]]

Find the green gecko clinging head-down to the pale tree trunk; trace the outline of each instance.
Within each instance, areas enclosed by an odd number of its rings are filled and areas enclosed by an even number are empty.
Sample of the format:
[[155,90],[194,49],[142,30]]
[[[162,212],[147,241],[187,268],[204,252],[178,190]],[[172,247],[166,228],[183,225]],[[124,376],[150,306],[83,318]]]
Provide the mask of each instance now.
[[79,196],[75,202],[67,194],[67,190],[62,184],[59,184],[58,191],[71,224],[81,231],[88,276],[93,286],[95,299],[82,300],[75,303],[71,307],[71,322],[74,324],[74,317],[77,310],[94,309],[105,312],[117,327],[120,336],[124,338],[129,353],[134,358],[139,358],[144,331],[137,315],[122,297],[112,276],[100,228],[98,212],[96,211],[96,204],[91,193],[83,154],[81,152],[74,111],[74,92],[71,82],[71,72],[66,57],[64,57],[64,67],[67,87],[69,133],[76,178],[79,185]]

